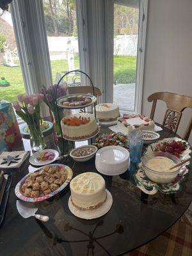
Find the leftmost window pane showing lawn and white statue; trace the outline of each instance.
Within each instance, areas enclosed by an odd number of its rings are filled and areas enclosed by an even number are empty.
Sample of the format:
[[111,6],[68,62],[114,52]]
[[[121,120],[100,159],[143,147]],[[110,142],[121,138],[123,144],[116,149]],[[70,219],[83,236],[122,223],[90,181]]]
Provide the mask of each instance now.
[[0,9],[0,100],[13,102],[19,93],[25,93],[25,88],[12,14]]

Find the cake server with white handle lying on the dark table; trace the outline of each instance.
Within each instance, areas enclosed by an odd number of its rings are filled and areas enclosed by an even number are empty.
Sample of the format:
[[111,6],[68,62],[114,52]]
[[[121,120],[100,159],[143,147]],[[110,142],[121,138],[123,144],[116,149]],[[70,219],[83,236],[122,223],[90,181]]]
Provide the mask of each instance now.
[[16,202],[17,205],[17,211],[19,214],[22,216],[22,218],[26,219],[31,216],[35,217],[37,220],[41,221],[48,221],[49,217],[41,214],[35,214],[35,212],[38,210],[33,204],[28,203],[28,202],[23,202],[20,200],[17,200]]

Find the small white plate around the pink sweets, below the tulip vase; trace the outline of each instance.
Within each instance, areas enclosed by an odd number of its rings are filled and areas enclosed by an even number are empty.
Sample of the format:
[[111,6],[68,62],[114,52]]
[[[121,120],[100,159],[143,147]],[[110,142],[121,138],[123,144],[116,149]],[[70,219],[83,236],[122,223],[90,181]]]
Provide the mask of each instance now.
[[[47,160],[39,160],[38,157],[41,156],[42,154],[45,153],[50,153],[51,155],[54,154],[54,157],[52,159],[47,159]],[[58,156],[60,156],[59,152],[57,150],[54,149],[44,149],[44,150],[40,150],[38,152],[35,152],[32,156],[29,157],[29,163],[36,165],[36,166],[43,166],[46,164],[51,164],[54,161],[56,161],[56,159],[58,158]]]

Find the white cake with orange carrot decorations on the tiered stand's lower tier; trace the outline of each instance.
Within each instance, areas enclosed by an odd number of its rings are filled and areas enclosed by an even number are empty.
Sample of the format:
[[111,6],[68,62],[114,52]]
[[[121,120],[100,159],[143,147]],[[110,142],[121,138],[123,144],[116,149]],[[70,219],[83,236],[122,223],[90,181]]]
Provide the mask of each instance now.
[[95,116],[89,113],[70,115],[61,120],[63,136],[71,140],[83,140],[99,131]]

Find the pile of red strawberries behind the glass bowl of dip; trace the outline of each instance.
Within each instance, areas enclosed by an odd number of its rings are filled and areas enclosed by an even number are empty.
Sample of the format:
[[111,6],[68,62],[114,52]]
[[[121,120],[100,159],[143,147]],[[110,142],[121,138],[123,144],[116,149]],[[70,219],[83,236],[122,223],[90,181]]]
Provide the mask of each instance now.
[[157,144],[155,151],[169,152],[173,155],[180,157],[180,154],[186,149],[186,143],[182,141],[169,141],[161,144]]

